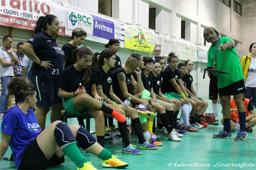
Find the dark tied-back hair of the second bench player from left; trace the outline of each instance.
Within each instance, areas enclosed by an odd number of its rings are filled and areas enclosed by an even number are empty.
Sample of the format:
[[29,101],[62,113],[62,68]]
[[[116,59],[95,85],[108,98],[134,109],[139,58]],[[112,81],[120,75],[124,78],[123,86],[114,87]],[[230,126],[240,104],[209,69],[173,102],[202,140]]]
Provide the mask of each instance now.
[[[98,59],[99,55],[99,59]],[[115,53],[111,50],[103,50],[101,53],[94,53],[93,58],[92,58],[92,66],[93,68],[97,69],[99,66],[104,65],[104,58],[110,59]]]

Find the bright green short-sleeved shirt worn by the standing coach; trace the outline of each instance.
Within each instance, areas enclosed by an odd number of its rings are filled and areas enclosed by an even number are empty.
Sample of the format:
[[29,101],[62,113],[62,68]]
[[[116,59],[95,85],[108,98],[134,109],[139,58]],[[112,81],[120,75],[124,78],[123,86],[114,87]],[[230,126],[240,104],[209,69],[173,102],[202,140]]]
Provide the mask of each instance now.
[[[219,38],[219,45],[232,42],[229,37]],[[208,67],[212,67],[215,61],[216,45],[211,45],[208,50]],[[242,66],[235,48],[224,51],[219,50],[217,53],[216,70],[226,71],[229,74],[218,74],[218,88],[227,87],[228,85],[244,79]]]

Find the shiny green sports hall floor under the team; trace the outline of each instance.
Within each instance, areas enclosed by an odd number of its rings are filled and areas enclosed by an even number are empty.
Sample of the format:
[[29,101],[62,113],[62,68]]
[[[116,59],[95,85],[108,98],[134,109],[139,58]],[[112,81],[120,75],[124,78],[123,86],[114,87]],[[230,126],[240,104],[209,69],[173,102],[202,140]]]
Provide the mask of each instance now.
[[[212,112],[211,101],[206,112]],[[218,104],[219,120],[222,118],[221,105]],[[179,116],[178,116],[179,117]],[[2,120],[0,120],[2,123]],[[78,123],[77,119],[68,119],[68,124]],[[47,115],[47,126],[50,124],[50,114]],[[117,125],[114,120],[114,124]],[[91,130],[95,127],[95,122],[91,119]],[[114,155],[118,155],[121,161],[129,163],[125,169],[256,169],[256,127],[253,132],[248,133],[248,137],[243,142],[235,142],[236,133],[232,133],[232,138],[218,139],[213,138],[215,133],[223,129],[223,125],[209,125],[199,132],[189,132],[181,138],[180,142],[168,141],[167,136],[161,136],[163,146],[157,150],[141,150],[140,155],[123,153],[123,144],[108,141],[105,147]],[[158,134],[156,134],[158,135]],[[1,135],[0,135],[1,137]],[[131,143],[136,145],[137,137],[132,136]],[[105,169],[101,165],[101,159],[96,156],[81,151],[83,156],[97,169]],[[9,156],[11,148],[8,148],[5,156]],[[65,163],[50,169],[76,169],[75,164],[65,156]],[[16,169],[13,162],[0,162],[0,169]],[[114,169],[114,168],[109,168]]]

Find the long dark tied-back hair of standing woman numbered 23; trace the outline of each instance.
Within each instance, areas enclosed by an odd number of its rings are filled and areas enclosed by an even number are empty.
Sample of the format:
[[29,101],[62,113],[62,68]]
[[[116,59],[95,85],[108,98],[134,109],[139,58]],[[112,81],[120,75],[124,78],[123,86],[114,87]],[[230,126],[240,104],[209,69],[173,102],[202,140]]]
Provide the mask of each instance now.
[[41,30],[47,30],[46,24],[52,24],[53,20],[57,18],[56,16],[53,16],[52,14],[48,14],[45,17],[41,16],[36,22],[36,28],[34,30],[34,34],[41,32]]

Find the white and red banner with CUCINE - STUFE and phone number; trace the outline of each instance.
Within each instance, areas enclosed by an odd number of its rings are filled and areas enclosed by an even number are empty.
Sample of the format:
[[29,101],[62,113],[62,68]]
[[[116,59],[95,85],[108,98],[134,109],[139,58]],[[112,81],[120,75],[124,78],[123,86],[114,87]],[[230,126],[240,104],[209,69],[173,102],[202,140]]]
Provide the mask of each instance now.
[[50,0],[22,1],[2,0],[0,6],[0,23],[8,27],[35,29],[39,17],[53,14],[58,17],[60,35],[65,35],[65,9],[61,2]]

